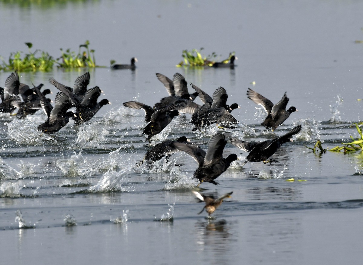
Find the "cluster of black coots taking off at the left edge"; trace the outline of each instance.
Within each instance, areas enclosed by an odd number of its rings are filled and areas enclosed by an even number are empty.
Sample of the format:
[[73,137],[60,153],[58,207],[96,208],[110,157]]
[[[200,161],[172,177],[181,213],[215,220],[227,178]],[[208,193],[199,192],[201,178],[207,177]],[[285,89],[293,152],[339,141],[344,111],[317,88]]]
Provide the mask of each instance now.
[[[60,92],[56,94],[54,106],[52,101],[46,97],[52,93],[50,89],[41,92],[43,84],[37,87],[29,87],[19,81],[17,72],[13,72],[6,80],[4,88],[0,88],[1,104],[0,112],[14,113],[17,118],[22,119],[26,115],[36,113],[42,109],[47,119],[38,126],[43,133],[56,133],[67,125],[69,119],[74,120],[75,125],[89,121],[102,106],[111,104],[107,99],[97,102],[103,91],[99,87],[87,89],[90,81],[90,74],[86,72],[79,76],[74,82],[73,88],[57,82],[53,77],[49,79]],[[75,108],[74,111],[68,111]]]

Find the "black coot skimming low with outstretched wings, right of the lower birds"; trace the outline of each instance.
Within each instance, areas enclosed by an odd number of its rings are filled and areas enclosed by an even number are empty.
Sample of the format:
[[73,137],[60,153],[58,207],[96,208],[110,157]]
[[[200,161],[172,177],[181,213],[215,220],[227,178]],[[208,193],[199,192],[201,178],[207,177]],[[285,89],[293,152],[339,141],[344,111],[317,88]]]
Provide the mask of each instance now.
[[[249,162],[259,162],[264,161],[264,163],[277,162],[276,160],[267,161],[267,159],[272,156],[282,144],[287,142],[292,142],[291,137],[301,130],[301,125],[294,127],[287,134],[282,135],[278,138],[266,140],[264,142],[245,142],[236,137],[231,138],[231,143],[237,148],[249,152],[247,156],[247,161]],[[247,163],[247,162],[246,162]]]

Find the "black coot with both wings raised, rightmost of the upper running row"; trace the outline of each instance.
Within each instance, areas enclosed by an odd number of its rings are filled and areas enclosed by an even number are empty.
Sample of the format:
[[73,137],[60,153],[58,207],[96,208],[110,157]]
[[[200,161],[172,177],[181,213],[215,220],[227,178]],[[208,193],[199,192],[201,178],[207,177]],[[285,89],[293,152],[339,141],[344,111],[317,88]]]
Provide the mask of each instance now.
[[287,103],[289,102],[286,92],[281,100],[275,105],[269,99],[250,88],[248,88],[247,96],[254,103],[262,106],[262,108],[264,108],[266,111],[267,117],[265,121],[261,123],[261,125],[266,129],[272,128],[272,130],[276,130],[278,126],[280,126],[284,121],[286,121],[287,118],[289,118],[291,113],[297,112],[295,107],[290,107],[288,110],[286,110]]

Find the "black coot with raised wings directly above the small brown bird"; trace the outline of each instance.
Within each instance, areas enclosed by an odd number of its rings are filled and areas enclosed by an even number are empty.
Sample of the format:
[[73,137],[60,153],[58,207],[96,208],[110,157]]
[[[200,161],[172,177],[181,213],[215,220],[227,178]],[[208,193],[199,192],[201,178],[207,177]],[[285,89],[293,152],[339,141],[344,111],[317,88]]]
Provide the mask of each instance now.
[[193,177],[200,181],[197,187],[202,182],[211,182],[217,185],[218,183],[214,180],[227,170],[232,161],[237,160],[237,155],[234,153],[227,158],[222,156],[226,143],[227,140],[223,134],[212,136],[207,152],[191,144],[174,143],[179,150],[188,153],[199,164],[199,167],[193,174]]

